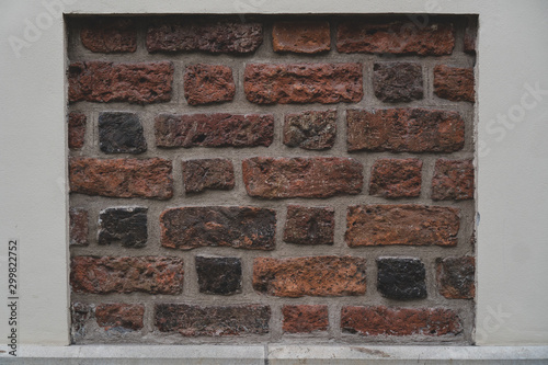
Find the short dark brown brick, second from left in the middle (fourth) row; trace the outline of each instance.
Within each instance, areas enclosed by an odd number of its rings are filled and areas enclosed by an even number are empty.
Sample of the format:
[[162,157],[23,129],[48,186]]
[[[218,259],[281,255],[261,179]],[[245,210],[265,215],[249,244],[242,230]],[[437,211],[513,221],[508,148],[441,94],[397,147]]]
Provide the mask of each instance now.
[[183,161],[183,181],[186,193],[204,190],[231,190],[235,187],[235,168],[226,159]]

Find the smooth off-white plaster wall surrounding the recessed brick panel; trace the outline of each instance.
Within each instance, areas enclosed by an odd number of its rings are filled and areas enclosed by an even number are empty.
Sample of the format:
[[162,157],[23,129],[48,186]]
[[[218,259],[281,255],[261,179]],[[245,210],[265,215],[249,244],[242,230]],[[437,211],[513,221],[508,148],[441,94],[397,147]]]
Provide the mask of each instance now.
[[[9,238],[20,239],[22,342],[68,344],[66,66],[60,12],[238,11],[480,15],[477,341],[547,344],[548,2],[543,0],[2,0],[0,258],[5,258]],[[28,33],[30,24],[42,30]],[[18,42],[15,37],[25,42],[19,50],[10,44]],[[535,99],[528,88],[543,92]],[[507,121],[496,122],[498,114]],[[4,282],[2,260],[0,272]],[[3,310],[1,337],[7,326]]]

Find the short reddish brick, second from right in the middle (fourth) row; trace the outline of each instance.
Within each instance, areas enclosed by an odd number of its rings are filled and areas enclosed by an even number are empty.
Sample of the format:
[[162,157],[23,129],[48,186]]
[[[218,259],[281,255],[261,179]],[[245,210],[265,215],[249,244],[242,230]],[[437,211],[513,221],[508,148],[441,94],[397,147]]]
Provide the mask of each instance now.
[[421,195],[422,161],[419,159],[379,159],[372,168],[369,195],[413,197]]

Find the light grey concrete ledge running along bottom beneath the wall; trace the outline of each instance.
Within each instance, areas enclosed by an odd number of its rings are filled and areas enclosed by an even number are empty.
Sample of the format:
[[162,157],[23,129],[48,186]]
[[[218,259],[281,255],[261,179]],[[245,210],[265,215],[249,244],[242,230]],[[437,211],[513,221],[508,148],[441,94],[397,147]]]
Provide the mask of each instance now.
[[0,364],[548,364],[548,346],[22,345]]

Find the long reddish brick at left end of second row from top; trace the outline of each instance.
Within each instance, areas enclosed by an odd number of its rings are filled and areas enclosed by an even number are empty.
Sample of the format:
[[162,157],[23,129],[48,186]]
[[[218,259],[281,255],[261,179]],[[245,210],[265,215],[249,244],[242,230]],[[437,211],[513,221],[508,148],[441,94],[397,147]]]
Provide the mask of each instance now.
[[171,62],[72,62],[68,73],[70,102],[148,104],[171,100]]

